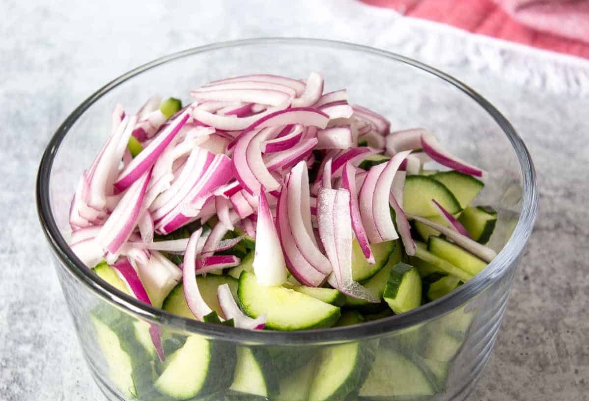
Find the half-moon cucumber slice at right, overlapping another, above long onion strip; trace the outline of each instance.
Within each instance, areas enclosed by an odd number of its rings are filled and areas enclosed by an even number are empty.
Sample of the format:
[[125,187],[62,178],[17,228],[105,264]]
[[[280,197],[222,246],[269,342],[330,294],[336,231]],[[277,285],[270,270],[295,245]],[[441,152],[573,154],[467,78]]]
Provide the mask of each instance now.
[[405,213],[427,218],[438,216],[438,212],[431,205],[432,199],[438,201],[453,215],[462,210],[456,197],[441,182],[425,175],[407,176],[403,188],[403,210]]

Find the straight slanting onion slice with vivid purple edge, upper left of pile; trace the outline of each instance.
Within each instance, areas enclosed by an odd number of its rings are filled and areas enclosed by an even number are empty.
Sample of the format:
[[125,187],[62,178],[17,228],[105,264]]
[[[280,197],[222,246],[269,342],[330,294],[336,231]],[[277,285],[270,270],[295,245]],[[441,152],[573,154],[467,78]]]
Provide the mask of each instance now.
[[161,152],[166,149],[174,136],[180,131],[180,128],[186,123],[188,116],[188,111],[178,116],[165,131],[161,132],[141,153],[135,156],[133,161],[118,176],[117,182],[114,183],[118,191],[129,188],[145,171],[155,164]]

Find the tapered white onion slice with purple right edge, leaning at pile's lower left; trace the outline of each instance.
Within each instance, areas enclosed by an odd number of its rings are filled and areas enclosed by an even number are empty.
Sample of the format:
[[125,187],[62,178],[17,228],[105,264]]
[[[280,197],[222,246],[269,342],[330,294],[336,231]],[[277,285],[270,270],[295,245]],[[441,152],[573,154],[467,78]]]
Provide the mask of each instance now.
[[104,250],[116,254],[130,237],[140,218],[141,205],[151,178],[151,169],[143,173],[125,192],[117,207],[112,210],[96,240]]

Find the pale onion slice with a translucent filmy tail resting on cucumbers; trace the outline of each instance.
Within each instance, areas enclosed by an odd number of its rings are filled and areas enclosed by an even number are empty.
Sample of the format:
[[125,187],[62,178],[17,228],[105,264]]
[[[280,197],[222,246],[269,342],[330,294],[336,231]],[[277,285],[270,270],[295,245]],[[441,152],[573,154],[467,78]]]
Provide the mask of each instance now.
[[333,266],[329,283],[353,298],[379,303],[380,297],[352,278],[352,218],[347,189],[321,189],[317,198],[319,236]]

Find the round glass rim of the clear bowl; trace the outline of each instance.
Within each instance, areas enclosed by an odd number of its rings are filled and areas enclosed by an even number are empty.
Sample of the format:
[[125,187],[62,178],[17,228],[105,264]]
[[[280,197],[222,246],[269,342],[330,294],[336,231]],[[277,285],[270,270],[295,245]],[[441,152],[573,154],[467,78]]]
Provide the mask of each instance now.
[[[199,322],[195,319],[188,319],[182,316],[174,315],[163,309],[146,305],[139,300],[114,288],[97,275],[91,272],[69,248],[63,238],[57,223],[51,213],[51,203],[49,201],[49,179],[51,168],[59,145],[65,138],[72,125],[90,106],[98,101],[105,93],[116,88],[128,79],[133,78],[140,73],[155,68],[158,65],[184,58],[191,55],[201,54],[204,52],[215,51],[218,49],[236,48],[244,46],[258,45],[285,45],[285,46],[315,46],[337,48],[346,51],[362,52],[363,54],[382,56],[392,59],[413,68],[421,69],[437,78],[440,78],[455,88],[462,91],[465,95],[472,98],[478,103],[499,125],[505,135],[511,142],[517,155],[521,168],[522,183],[524,186],[524,195],[522,197],[521,214],[514,232],[505,244],[498,256],[475,278],[460,286],[458,289],[448,295],[435,300],[434,302],[420,306],[410,312],[401,315],[389,316],[372,322],[361,323],[360,325],[345,326],[342,328],[327,328],[315,330],[299,330],[294,332],[279,332],[269,330],[244,330],[229,328],[221,325],[211,325],[210,323]],[[468,300],[474,298],[492,283],[496,282],[508,270],[512,263],[516,262],[521,254],[528,238],[530,237],[532,226],[534,225],[535,216],[538,208],[538,190],[536,185],[536,176],[534,164],[532,163],[530,153],[525,147],[524,142],[518,133],[509,123],[509,121],[499,112],[491,103],[479,93],[475,92],[469,86],[465,85],[458,79],[439,71],[429,65],[414,59],[388,52],[385,50],[351,44],[342,41],[332,41],[316,38],[255,38],[240,39],[235,41],[217,42],[210,45],[197,46],[157,58],[147,62],[137,68],[132,69],[108,82],[102,88],[92,93],[77,108],[67,116],[55,131],[39,164],[36,185],[37,212],[42,229],[47,237],[49,246],[57,255],[57,258],[64,265],[68,272],[87,289],[91,290],[100,298],[117,308],[123,309],[127,313],[137,316],[138,318],[158,323],[164,326],[170,326],[177,330],[187,330],[198,333],[207,337],[227,340],[230,342],[267,344],[267,345],[300,345],[300,344],[327,344],[340,343],[350,340],[368,339],[376,337],[394,330],[401,330],[412,325],[425,322],[444,315]]]

